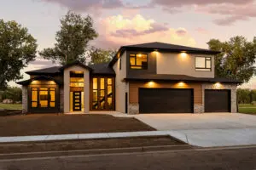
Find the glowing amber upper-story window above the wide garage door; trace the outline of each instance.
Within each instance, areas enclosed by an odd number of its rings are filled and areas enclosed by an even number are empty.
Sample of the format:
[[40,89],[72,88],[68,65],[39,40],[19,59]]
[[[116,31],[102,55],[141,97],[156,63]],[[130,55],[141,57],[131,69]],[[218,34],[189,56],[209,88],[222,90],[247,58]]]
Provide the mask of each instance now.
[[148,69],[148,55],[147,54],[130,54],[130,68],[138,70]]

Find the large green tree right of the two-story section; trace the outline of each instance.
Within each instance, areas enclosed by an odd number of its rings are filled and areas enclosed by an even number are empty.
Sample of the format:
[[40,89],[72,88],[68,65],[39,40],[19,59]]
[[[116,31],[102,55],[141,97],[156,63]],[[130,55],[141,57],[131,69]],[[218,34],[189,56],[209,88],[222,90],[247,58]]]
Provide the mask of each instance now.
[[229,77],[248,82],[255,74],[256,37],[248,42],[245,37],[231,37],[228,42],[211,39],[207,42],[212,50],[221,51],[215,58],[215,73],[218,77]]

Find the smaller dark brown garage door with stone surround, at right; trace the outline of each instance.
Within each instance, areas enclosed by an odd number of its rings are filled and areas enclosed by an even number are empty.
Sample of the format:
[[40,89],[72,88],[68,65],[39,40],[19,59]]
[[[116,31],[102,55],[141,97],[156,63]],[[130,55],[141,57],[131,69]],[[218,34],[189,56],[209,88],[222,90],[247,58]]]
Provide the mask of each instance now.
[[205,112],[230,112],[230,90],[205,90]]

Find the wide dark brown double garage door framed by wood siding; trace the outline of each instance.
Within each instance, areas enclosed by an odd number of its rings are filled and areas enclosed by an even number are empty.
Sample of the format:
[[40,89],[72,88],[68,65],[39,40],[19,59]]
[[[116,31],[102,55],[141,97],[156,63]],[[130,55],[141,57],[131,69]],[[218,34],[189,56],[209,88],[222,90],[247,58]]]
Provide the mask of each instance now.
[[192,113],[193,89],[140,88],[140,113]]

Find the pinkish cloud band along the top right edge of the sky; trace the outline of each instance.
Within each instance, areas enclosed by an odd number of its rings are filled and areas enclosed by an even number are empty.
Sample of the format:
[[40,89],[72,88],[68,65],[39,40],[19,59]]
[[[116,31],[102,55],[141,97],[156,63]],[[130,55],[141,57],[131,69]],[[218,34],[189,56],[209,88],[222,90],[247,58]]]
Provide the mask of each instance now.
[[205,14],[222,15],[213,20],[218,26],[229,26],[238,20],[248,20],[256,17],[256,4],[254,0],[152,0],[153,5],[160,6],[171,14],[194,10]]

